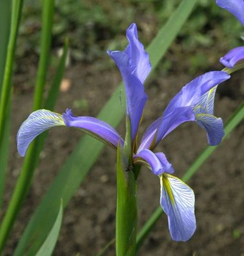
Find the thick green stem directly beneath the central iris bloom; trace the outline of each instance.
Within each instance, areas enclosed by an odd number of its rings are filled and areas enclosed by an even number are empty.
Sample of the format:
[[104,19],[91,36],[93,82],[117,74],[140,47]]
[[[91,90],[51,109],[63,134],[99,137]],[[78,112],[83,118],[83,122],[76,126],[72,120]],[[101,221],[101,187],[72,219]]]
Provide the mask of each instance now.
[[[117,147],[116,255],[136,255],[137,184],[132,169],[125,170],[123,152]],[[127,157],[126,157],[127,158]],[[127,160],[128,163],[128,160]]]

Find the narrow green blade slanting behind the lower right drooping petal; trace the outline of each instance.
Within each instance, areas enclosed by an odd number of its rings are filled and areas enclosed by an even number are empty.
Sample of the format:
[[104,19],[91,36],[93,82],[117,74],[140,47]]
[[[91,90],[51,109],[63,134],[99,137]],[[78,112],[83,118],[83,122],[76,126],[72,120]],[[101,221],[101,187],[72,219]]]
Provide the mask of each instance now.
[[[225,136],[223,140],[229,136],[229,134],[234,130],[234,128],[243,120],[244,118],[244,102],[239,105],[238,109],[230,116],[229,121],[225,125]],[[221,144],[220,144],[221,145]],[[218,148],[219,146],[208,146],[206,149],[196,158],[194,163],[189,167],[183,176],[182,180],[187,182],[196,171],[199,170],[199,167],[209,158],[210,155]],[[159,206],[149,217],[147,222],[144,224],[143,228],[137,234],[137,249],[143,244],[143,241],[147,238],[151,229],[156,224],[157,220],[161,217],[163,210],[161,206]]]

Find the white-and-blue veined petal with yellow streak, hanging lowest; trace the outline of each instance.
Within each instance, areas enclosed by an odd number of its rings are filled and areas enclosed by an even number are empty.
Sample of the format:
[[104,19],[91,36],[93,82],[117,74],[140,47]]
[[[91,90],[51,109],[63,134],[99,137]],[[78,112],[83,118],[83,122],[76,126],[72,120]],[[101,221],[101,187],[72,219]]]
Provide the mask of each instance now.
[[160,204],[168,216],[168,228],[175,241],[187,241],[196,230],[194,192],[172,175],[160,176]]

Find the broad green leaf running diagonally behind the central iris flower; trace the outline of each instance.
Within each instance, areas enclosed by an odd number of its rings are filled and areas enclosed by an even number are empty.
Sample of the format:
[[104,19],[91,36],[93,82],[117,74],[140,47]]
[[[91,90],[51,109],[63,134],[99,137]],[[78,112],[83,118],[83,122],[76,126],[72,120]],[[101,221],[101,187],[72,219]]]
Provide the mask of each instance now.
[[[153,70],[175,39],[183,23],[185,23],[187,17],[190,15],[195,3],[196,0],[181,1],[178,9],[174,12],[172,17],[170,17],[165,26],[159,30],[158,35],[148,47]],[[97,118],[110,123],[110,125],[114,127],[121,122],[125,114],[124,110],[121,108],[121,103],[118,100],[121,89],[123,89],[122,83],[97,116]],[[125,101],[124,96],[123,100]],[[29,247],[31,248],[29,255],[33,255],[36,252],[38,244],[45,239],[46,233],[54,221],[59,208],[59,205],[57,204],[58,200],[63,198],[64,207],[68,204],[70,198],[72,198],[72,195],[74,195],[76,189],[80,186],[90,167],[96,162],[102,149],[103,144],[97,142],[93,138],[83,136],[69,156],[65,165],[61,168],[59,174],[56,176],[52,186],[50,186],[46,192],[40,206],[32,216],[32,219],[28,223],[28,226],[19,241],[14,255],[23,255],[25,248]],[[37,230],[41,230],[38,235],[36,235]]]

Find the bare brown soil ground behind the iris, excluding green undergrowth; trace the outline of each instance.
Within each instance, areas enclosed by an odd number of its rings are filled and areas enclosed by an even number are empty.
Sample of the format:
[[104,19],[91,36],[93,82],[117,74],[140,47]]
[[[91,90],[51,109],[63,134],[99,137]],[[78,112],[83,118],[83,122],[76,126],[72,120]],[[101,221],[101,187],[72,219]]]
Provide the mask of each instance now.
[[[180,60],[179,60],[180,61]],[[15,134],[19,125],[30,114],[35,65],[23,67],[23,74],[15,78],[15,93],[12,116],[10,167],[7,175],[6,202],[10,198],[23,160],[15,149]],[[215,67],[221,69],[220,65]],[[214,67],[212,67],[212,70]],[[201,73],[207,70],[201,70]],[[200,73],[199,73],[200,74]],[[99,109],[112,94],[121,80],[116,67],[108,70],[78,63],[68,68],[65,78],[71,87],[61,92],[56,112],[66,107],[76,115],[96,116]],[[150,122],[158,118],[170,98],[182,85],[194,77],[187,75],[187,67],[174,66],[166,75],[158,69],[147,82],[148,103],[141,125],[141,133]],[[244,94],[244,72],[232,76],[232,80],[219,86],[216,95],[216,116],[227,122],[238,107]],[[74,101],[86,100],[88,105],[80,109]],[[118,98],[119,100],[119,98]],[[118,127],[124,134],[124,123]],[[188,242],[174,242],[168,232],[167,217],[163,215],[138,255],[244,255],[244,162],[243,123],[223,142],[188,182],[196,195],[196,233]],[[5,255],[12,255],[17,240],[23,232],[35,207],[39,204],[48,186],[61,165],[74,149],[82,134],[75,129],[55,128],[50,131],[41,164],[25,205],[14,226]],[[176,176],[192,164],[196,156],[207,146],[207,138],[196,123],[185,123],[169,134],[157,148],[163,151],[176,169]],[[61,235],[54,255],[96,255],[115,234],[116,213],[116,155],[106,148],[96,165],[79,187],[65,210]],[[159,206],[159,180],[147,169],[142,169],[138,180],[139,227]],[[115,255],[114,246],[105,255]]]

